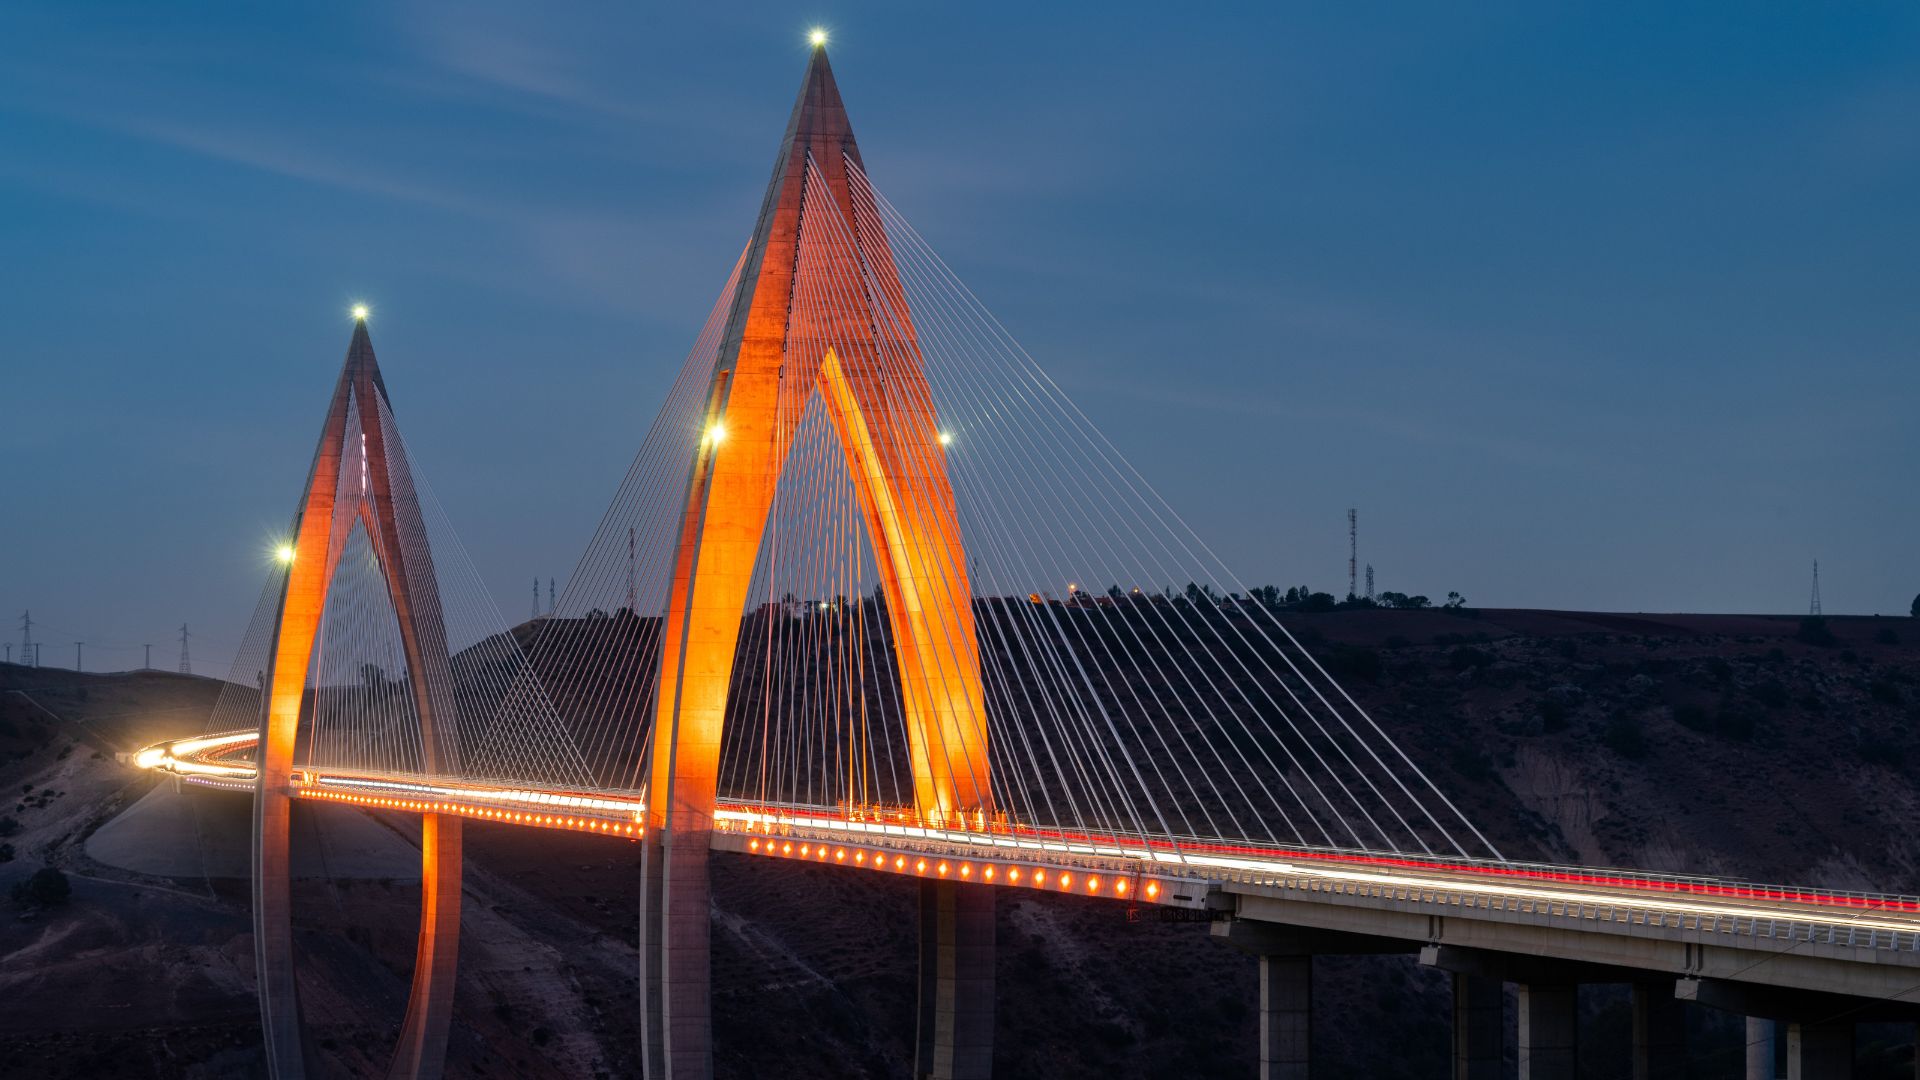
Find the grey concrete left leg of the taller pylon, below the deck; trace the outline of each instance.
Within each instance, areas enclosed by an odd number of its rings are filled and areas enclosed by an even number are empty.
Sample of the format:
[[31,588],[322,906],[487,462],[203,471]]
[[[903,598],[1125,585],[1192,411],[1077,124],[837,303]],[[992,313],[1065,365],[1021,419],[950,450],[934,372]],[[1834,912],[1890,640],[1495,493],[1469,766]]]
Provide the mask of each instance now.
[[641,1065],[647,1080],[712,1076],[712,899],[705,834],[641,851]]

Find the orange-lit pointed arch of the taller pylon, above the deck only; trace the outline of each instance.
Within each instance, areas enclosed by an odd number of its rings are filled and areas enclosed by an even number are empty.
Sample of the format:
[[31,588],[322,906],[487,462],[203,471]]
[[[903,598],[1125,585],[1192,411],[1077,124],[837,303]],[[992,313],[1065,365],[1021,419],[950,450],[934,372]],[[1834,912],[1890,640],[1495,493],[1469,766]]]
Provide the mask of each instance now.
[[[860,150],[816,48],[714,359],[708,436],[687,488],[653,728],[647,815],[659,826],[705,828],[712,817],[739,621],[801,413],[795,386],[820,390],[858,490],[900,667],[914,803],[939,824],[991,809],[972,584],[945,448],[893,254],[872,215],[854,211],[864,181],[849,161],[858,165]],[[826,192],[806,192],[810,183]],[[885,317],[841,313],[829,331],[795,298],[806,288],[835,292],[843,307],[870,304],[843,282],[797,281],[814,231],[851,236],[891,298]]]

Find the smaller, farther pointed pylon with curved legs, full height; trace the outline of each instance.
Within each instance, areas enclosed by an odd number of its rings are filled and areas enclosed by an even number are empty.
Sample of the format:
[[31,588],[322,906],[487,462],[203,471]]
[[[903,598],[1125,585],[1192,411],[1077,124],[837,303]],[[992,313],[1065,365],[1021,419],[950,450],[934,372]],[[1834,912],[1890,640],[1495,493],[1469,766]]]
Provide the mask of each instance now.
[[[420,723],[420,771],[455,773],[455,698],[447,632],[426,527],[365,317],[334,384],[307,486],[284,548],[286,578],[273,623],[253,799],[253,961],[267,1067],[276,1080],[309,1074],[292,930],[292,767],[307,671],[334,571],[355,527],[367,532],[399,625],[407,688]],[[357,467],[355,467],[357,465]],[[442,1074],[461,926],[461,819],[420,824],[420,938],[399,1045],[388,1076]]]

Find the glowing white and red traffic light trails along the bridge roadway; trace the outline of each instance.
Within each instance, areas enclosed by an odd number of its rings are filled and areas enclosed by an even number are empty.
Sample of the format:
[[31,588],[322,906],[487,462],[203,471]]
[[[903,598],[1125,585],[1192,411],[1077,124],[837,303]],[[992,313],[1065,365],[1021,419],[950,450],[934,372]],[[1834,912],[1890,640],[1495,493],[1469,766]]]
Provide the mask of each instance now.
[[[150,746],[132,755],[142,769],[175,773],[182,780],[252,790],[253,765],[234,759],[257,744],[257,732],[227,732]],[[449,784],[436,778],[365,776],[346,773],[298,771],[294,794],[344,801],[371,809],[413,813],[453,813],[534,828],[568,828],[620,838],[645,834],[645,799],[614,792],[551,792],[486,784]],[[1359,888],[1390,888],[1415,894],[1453,894],[1528,903],[1563,903],[1588,909],[1636,909],[1690,915],[1699,919],[1753,919],[1851,926],[1860,930],[1920,932],[1920,899],[1874,894],[1826,894],[1793,888],[1715,882],[1711,878],[1663,878],[1634,872],[1586,871],[1574,867],[1528,867],[1404,857],[1377,851],[1254,847],[1204,840],[1116,838],[1060,828],[1035,828],[973,815],[962,828],[920,822],[912,811],[856,811],[810,805],[753,805],[722,801],[714,813],[716,847],[753,853],[751,844],[778,838],[808,851],[818,844],[843,846],[849,857],[870,861],[874,851],[906,857],[906,869],[920,872],[922,857],[931,859],[939,876],[941,859],[948,869],[993,867],[993,878],[1014,884],[1018,871],[1027,882],[1044,874],[1068,874],[1085,886],[1085,874],[1112,886],[1127,874],[1154,867],[1160,880],[1233,878],[1250,884],[1288,888],[1292,880],[1340,882]],[[764,851],[762,851],[764,853]],[[778,851],[785,857],[783,851]],[[818,861],[818,855],[812,855]],[[856,865],[860,865],[856,861]],[[972,880],[975,871],[960,874]],[[1119,874],[1116,878],[1114,874]],[[1204,890],[1181,890],[1194,892]],[[1114,894],[1108,894],[1114,896]],[[1183,897],[1185,899],[1185,897]]]

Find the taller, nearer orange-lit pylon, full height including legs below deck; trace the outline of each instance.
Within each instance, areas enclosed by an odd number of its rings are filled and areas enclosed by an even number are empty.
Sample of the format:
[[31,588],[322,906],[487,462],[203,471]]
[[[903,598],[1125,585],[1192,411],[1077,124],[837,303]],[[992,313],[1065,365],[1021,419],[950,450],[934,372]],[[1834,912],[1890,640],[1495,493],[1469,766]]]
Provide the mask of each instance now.
[[[945,444],[864,184],[847,108],[816,42],[712,359],[674,552],[641,882],[649,1078],[712,1074],[707,859],[722,728],[768,513],[816,394],[885,592],[914,811],[941,826],[993,813],[973,598]],[[993,1036],[991,890],[941,882],[922,903],[933,936],[922,947],[922,1070],[981,1076]],[[943,1040],[945,1049],[935,1045]]]

